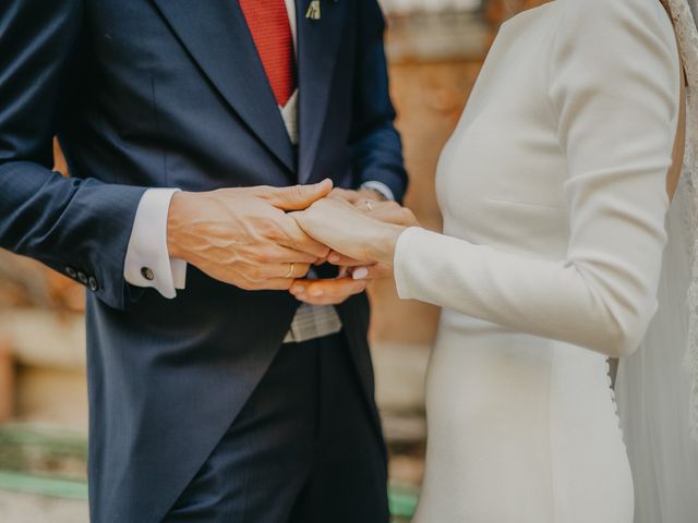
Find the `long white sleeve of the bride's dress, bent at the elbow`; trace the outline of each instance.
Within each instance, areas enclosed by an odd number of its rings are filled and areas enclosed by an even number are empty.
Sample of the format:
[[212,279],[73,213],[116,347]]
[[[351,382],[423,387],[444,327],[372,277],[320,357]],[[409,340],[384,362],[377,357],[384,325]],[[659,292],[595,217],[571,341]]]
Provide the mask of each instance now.
[[567,159],[565,259],[411,228],[398,240],[395,279],[404,299],[624,355],[657,309],[679,107],[676,42],[646,0],[558,8],[547,87]]

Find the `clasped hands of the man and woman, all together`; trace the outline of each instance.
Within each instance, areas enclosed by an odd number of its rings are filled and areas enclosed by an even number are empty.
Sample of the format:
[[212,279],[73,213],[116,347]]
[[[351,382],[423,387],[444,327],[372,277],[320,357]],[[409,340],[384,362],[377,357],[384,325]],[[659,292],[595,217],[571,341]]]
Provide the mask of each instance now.
[[[392,271],[392,240],[413,215],[371,191],[332,182],[291,187],[176,193],[167,227],[171,257],[245,290],[287,290],[334,305]],[[394,241],[393,241],[394,248]],[[335,279],[306,279],[313,265],[340,267]]]

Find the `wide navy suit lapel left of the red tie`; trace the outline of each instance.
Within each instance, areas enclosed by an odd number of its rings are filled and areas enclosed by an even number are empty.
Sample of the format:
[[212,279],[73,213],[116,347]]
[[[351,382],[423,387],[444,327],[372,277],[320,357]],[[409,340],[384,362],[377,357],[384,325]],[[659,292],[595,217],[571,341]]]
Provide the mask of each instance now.
[[238,1],[153,1],[222,98],[294,172],[293,146]]

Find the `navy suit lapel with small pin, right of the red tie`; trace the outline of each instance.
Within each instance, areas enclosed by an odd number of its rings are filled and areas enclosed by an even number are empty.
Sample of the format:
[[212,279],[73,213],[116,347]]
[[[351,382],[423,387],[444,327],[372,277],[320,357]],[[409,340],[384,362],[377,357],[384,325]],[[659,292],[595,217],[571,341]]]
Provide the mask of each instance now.
[[351,0],[321,0],[322,17],[309,20],[311,0],[296,0],[298,32],[299,182],[312,175],[322,136],[337,50],[344,29],[346,4]]

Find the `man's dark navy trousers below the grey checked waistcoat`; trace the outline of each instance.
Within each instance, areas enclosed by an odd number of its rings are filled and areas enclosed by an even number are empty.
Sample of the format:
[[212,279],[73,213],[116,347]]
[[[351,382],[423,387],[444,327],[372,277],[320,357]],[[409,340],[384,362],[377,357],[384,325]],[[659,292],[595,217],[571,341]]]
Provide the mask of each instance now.
[[165,521],[386,523],[380,438],[342,335],[285,344]]

